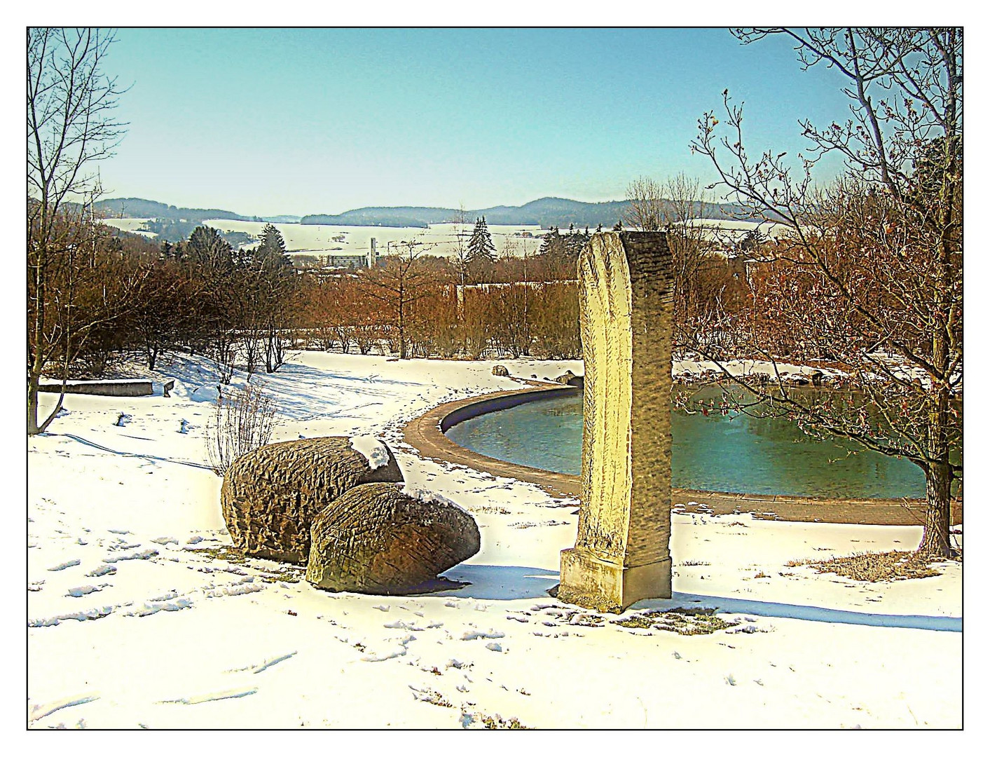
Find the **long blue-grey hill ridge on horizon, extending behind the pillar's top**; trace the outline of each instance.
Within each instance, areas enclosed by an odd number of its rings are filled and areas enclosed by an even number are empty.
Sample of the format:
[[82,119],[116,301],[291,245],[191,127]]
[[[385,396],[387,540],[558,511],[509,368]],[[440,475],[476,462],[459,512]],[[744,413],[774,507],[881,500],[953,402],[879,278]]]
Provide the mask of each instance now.
[[[609,202],[579,202],[562,197],[542,197],[525,205],[496,205],[478,210],[466,210],[468,223],[484,216],[489,224],[539,225],[543,228],[559,226],[567,228],[595,228],[601,224],[611,229],[629,208],[629,200]],[[730,219],[738,217],[741,208],[732,203],[698,203],[695,215],[702,218]],[[347,210],[339,215],[303,216],[302,224],[328,224],[333,226],[418,226],[449,223],[458,215],[453,208],[428,207],[368,207]]]

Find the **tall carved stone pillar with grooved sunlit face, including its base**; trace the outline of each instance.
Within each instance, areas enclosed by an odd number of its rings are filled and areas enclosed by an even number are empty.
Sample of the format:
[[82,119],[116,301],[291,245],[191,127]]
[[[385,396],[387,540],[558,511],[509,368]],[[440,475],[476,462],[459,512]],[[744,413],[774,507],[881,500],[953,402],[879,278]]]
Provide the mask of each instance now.
[[578,261],[584,442],[563,601],[621,612],[669,597],[673,267],[664,232],[599,232]]

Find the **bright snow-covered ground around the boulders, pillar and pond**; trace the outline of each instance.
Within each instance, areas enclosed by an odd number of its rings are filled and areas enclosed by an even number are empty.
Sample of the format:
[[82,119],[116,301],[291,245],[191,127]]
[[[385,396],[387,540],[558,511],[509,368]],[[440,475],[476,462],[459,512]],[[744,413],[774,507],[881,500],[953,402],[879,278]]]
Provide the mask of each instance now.
[[[526,378],[581,373],[499,362]],[[493,365],[307,352],[252,379],[281,408],[275,441],[377,436],[411,487],[474,515],[481,551],[446,574],[470,586],[442,595],[328,594],[299,569],[225,560],[205,364],[166,363],[149,397],[66,396],[28,441],[30,725],[961,725],[959,564],[892,584],[786,565],[910,550],[920,528],[674,515],[674,597],[622,617],[707,606],[737,623],[710,634],[626,627],[546,595],[574,542],[575,500],[400,441],[441,402],[519,385]]]

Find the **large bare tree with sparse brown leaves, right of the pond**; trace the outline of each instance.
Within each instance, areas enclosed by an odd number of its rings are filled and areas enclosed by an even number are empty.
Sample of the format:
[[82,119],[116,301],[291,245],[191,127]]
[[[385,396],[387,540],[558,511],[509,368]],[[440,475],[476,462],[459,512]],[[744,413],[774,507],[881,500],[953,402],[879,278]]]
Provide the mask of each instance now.
[[[927,496],[919,551],[951,555],[951,487],[962,476],[962,31],[734,34],[746,44],[785,36],[805,68],[825,64],[845,77],[851,118],[802,123],[812,149],[796,170],[785,153],[746,154],[743,111],[728,91],[730,136],[720,139],[707,113],[692,147],[753,216],[789,227],[769,246],[762,289],[776,332],[793,335],[788,349],[799,356],[831,358],[864,400],[809,400],[782,381],[771,392],[735,380],[810,428],[918,465]],[[841,155],[847,175],[816,189],[812,169],[827,153]],[[776,357],[779,343],[760,340],[756,326],[748,333],[752,349]],[[704,353],[703,340],[698,347]]]

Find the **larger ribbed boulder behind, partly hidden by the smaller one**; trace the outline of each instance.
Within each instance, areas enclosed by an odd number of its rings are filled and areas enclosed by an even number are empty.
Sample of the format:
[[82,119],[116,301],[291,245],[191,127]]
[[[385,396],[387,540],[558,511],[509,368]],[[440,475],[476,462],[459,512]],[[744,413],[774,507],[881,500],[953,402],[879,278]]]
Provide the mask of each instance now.
[[349,438],[328,436],[269,444],[243,455],[224,476],[220,498],[231,538],[245,554],[305,563],[310,527],[320,510],[350,487],[402,480],[391,450],[388,463],[372,471]]

